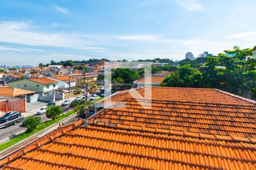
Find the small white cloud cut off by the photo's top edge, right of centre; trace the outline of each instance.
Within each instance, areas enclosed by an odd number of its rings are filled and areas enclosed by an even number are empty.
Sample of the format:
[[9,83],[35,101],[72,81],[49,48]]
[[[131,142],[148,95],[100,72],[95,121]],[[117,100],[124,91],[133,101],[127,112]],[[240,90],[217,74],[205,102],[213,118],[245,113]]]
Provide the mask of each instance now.
[[194,1],[194,0],[175,0],[175,2],[184,7],[188,11],[203,11],[206,10],[206,8],[201,5],[200,3]]

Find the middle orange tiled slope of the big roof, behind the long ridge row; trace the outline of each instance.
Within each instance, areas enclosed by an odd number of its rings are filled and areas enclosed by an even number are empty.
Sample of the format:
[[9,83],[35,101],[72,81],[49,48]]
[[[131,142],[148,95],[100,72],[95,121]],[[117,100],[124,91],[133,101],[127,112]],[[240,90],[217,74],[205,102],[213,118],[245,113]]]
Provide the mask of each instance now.
[[151,108],[148,109],[142,107],[135,99],[127,99],[125,103],[125,108],[106,110],[93,120],[112,124],[256,138],[256,105],[152,100]]

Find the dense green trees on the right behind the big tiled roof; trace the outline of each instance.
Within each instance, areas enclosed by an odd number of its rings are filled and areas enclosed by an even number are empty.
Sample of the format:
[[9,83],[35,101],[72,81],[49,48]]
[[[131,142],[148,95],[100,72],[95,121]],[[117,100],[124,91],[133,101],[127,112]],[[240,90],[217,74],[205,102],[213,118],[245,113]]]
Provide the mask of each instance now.
[[[225,50],[217,57],[207,57],[204,65],[193,69],[190,62],[177,67],[175,73],[167,76],[160,86],[218,88],[232,94],[256,98],[256,59],[253,49]],[[229,57],[233,54],[234,57]]]

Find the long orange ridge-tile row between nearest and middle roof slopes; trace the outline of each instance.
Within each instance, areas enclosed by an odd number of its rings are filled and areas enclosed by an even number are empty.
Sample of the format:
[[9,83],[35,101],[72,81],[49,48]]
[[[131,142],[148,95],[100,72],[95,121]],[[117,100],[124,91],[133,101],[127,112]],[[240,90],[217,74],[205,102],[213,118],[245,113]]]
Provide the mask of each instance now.
[[111,124],[109,122],[93,121],[92,124],[109,126],[109,127],[118,128],[118,129],[126,129],[126,130],[129,129],[129,130],[145,131],[145,132],[151,132],[151,133],[180,135],[180,136],[203,138],[203,139],[214,139],[214,140],[219,140],[219,141],[256,143],[256,138],[234,137],[234,136],[229,136],[229,135],[217,135],[217,134],[204,134],[204,133],[195,133],[195,132],[172,130],[172,129],[168,130],[168,129],[160,129],[160,128],[146,128],[144,126]]

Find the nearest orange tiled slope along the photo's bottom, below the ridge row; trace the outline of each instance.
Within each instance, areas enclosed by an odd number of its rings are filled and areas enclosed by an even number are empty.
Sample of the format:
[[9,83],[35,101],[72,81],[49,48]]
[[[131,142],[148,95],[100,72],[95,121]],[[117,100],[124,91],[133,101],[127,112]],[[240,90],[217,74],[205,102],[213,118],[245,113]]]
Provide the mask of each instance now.
[[0,163],[5,169],[255,169],[255,148],[91,124],[41,139],[19,151],[13,162]]

